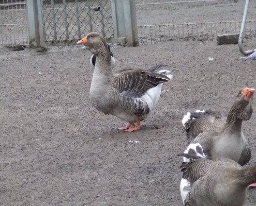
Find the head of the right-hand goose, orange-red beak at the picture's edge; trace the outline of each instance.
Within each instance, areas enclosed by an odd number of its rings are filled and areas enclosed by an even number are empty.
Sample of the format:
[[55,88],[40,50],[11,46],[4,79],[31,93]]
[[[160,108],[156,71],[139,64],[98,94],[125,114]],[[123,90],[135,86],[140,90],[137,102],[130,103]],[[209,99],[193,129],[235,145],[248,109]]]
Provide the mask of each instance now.
[[252,99],[255,89],[242,88],[238,91],[236,100],[231,110],[238,118],[247,121],[252,114]]

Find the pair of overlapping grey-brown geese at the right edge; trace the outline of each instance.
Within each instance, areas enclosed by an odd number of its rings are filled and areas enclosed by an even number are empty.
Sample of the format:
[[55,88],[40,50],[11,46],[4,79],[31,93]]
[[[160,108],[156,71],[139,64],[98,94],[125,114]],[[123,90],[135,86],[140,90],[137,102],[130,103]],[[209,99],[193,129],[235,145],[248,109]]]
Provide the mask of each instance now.
[[238,91],[228,115],[219,111],[195,111],[184,115],[184,132],[190,142],[180,156],[184,162],[180,194],[186,206],[240,206],[248,187],[256,186],[256,165],[243,168],[251,158],[242,132],[252,115],[252,88]]

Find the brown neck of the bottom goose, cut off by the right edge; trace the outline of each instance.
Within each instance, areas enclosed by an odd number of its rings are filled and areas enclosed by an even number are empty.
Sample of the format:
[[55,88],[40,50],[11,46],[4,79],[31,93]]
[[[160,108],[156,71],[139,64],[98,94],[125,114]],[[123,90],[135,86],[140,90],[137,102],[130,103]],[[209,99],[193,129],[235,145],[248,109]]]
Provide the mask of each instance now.
[[256,182],[256,165],[239,170],[239,172],[236,173],[236,176],[240,184],[246,187],[252,183],[255,183]]

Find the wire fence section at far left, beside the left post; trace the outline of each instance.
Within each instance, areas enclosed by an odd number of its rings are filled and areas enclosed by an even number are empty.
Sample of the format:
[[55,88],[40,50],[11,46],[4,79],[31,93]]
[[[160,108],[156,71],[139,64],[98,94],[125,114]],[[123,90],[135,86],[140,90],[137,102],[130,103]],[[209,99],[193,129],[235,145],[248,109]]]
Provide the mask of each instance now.
[[25,0],[0,1],[0,41],[2,44],[28,44]]

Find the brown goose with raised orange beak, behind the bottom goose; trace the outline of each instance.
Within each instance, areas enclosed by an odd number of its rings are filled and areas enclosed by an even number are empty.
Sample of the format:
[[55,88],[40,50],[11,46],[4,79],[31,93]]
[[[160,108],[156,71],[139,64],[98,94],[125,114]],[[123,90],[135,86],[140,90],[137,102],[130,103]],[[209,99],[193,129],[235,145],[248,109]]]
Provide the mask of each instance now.
[[253,93],[251,88],[240,89],[228,116],[211,110],[192,113],[184,128],[191,143],[200,143],[211,157],[230,158],[242,166],[248,163],[251,151],[241,128],[251,117]]

